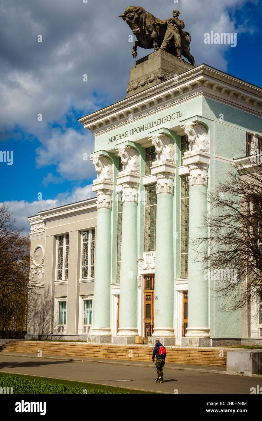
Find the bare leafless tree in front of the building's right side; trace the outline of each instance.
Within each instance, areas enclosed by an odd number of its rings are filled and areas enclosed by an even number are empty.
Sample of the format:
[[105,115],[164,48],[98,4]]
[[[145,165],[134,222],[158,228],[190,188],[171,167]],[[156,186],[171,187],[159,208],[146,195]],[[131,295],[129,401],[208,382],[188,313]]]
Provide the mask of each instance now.
[[208,234],[193,239],[229,311],[257,301],[262,290],[262,162],[260,155],[240,162],[208,193],[210,210],[202,226]]

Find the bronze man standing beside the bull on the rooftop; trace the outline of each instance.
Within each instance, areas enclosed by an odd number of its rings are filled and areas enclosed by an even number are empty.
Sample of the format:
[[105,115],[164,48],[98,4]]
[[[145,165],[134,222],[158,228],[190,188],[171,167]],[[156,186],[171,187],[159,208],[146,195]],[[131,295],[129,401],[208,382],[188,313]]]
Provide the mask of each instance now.
[[[153,22],[155,26],[167,26],[167,31],[165,33],[164,40],[161,44],[161,47],[159,47],[161,50],[166,50],[167,45],[174,39],[175,42],[175,48],[177,51],[177,58],[182,59],[182,47],[181,47],[181,31],[185,27],[185,24],[182,20],[178,19],[179,16],[179,10],[173,11],[173,19],[166,19],[163,22]],[[159,50],[159,48],[156,48]]]

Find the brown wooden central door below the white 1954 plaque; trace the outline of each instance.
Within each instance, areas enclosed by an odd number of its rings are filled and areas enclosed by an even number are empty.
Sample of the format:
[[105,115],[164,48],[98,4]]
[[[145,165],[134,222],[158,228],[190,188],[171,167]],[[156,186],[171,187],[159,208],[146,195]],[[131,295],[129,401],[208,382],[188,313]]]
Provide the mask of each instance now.
[[154,285],[155,275],[145,275],[144,280],[144,344],[152,336],[154,328]]

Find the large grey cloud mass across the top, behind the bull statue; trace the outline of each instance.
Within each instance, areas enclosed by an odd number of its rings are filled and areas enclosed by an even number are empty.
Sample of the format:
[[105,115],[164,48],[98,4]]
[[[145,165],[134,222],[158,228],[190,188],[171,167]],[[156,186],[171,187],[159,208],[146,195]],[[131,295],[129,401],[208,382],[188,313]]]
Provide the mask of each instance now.
[[[71,107],[88,113],[103,101],[124,97],[134,60],[128,42],[131,29],[118,17],[125,8],[121,0],[1,3],[1,128],[19,124],[38,136],[48,123],[60,122]],[[237,26],[230,17],[230,8],[237,10],[245,3],[248,1],[184,0],[177,5],[169,0],[161,4],[144,0],[143,7],[160,19],[171,17],[172,9],[179,7],[185,30],[191,33],[196,63],[205,61],[226,70],[224,53],[230,46],[206,45],[204,33],[251,30],[247,20]],[[39,34],[42,43],[37,42]],[[138,48],[138,58],[150,52]],[[88,75],[86,83],[83,74]],[[43,115],[41,123],[38,113]]]

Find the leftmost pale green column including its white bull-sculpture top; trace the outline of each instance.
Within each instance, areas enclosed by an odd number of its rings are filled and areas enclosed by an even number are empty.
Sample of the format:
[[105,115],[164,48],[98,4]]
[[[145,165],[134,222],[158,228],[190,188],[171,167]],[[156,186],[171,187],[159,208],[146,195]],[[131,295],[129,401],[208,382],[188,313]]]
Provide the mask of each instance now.
[[111,161],[104,156],[93,157],[98,179],[92,190],[97,194],[97,226],[95,236],[95,277],[93,300],[93,328],[87,341],[111,343],[111,208],[113,172]]

